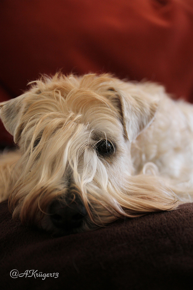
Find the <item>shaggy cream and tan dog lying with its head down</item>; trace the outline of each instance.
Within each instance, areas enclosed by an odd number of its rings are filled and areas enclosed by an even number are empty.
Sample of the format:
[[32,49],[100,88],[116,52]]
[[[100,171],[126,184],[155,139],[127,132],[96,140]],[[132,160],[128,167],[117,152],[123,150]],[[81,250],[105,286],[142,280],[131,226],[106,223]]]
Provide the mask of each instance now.
[[22,224],[67,235],[192,202],[193,106],[158,84],[57,73],[0,108],[18,146],[0,197]]

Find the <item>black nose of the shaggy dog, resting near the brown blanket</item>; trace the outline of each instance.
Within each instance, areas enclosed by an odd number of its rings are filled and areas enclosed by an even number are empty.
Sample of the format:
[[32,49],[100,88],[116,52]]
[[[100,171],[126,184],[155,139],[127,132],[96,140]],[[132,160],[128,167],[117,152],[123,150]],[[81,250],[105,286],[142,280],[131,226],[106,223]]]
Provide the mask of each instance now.
[[87,214],[84,205],[80,201],[74,201],[66,205],[59,200],[54,200],[50,205],[49,212],[54,226],[66,231],[80,227]]

